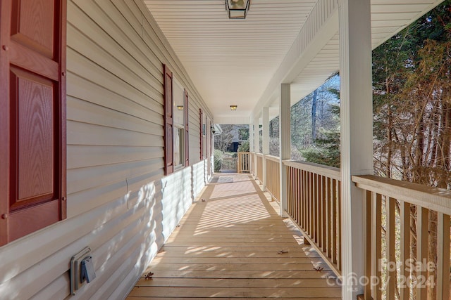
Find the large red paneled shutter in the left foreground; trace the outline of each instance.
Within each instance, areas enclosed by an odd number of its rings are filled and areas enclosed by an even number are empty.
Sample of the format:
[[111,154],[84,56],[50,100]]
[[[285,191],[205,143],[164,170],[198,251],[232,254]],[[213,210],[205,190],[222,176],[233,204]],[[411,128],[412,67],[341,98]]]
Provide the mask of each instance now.
[[0,12],[2,245],[66,219],[66,0]]

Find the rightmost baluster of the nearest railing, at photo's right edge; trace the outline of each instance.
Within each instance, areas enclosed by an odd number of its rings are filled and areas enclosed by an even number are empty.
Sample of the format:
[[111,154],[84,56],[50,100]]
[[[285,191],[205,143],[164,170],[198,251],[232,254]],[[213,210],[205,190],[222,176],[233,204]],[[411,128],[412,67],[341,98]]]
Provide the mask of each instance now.
[[450,299],[450,216],[438,213],[437,299]]

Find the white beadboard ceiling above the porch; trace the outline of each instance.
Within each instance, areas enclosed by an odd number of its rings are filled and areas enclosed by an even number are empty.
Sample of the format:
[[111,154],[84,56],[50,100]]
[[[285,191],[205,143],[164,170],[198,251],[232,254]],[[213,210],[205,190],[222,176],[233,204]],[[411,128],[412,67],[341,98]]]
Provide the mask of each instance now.
[[[373,48],[442,1],[372,0]],[[144,0],[219,124],[249,124],[261,107],[276,107],[280,83],[293,84],[294,104],[338,72],[337,2],[252,0],[245,20],[229,20],[224,0]],[[291,62],[312,24],[322,39],[309,40],[314,46]]]

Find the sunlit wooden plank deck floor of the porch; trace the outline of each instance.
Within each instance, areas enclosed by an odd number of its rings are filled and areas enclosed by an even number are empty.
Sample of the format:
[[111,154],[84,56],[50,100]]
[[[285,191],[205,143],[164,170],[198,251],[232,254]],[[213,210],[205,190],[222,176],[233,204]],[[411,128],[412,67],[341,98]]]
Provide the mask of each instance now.
[[200,198],[127,299],[341,298],[326,263],[251,176],[219,174]]

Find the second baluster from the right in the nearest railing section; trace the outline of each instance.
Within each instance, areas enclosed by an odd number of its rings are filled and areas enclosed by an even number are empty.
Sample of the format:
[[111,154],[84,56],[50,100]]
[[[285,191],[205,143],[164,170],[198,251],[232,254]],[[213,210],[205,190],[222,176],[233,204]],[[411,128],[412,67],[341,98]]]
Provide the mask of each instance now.
[[416,300],[426,300],[428,292],[426,280],[423,281],[423,278],[427,278],[424,261],[428,258],[428,223],[428,209],[416,207],[416,263],[421,266],[421,270],[416,272]]

